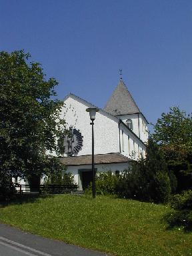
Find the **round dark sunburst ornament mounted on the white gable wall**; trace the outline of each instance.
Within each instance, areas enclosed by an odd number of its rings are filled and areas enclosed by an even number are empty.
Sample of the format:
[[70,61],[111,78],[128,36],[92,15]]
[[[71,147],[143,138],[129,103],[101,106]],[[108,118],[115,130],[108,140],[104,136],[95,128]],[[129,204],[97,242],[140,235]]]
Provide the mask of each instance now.
[[64,137],[64,153],[71,156],[77,154],[83,146],[83,136],[81,132],[73,127],[69,127],[69,132]]

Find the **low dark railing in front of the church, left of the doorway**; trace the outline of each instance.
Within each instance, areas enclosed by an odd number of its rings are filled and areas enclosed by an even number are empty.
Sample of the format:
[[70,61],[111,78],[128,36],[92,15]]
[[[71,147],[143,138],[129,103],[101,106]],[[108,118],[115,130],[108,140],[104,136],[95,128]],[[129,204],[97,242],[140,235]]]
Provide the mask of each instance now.
[[24,193],[50,193],[61,194],[77,191],[77,185],[21,185],[15,184],[17,193],[20,195]]

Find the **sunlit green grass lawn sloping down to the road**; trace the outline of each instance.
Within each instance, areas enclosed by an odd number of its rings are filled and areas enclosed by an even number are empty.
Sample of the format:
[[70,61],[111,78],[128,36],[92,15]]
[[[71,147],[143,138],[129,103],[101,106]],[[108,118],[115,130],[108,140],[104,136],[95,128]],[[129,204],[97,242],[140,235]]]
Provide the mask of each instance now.
[[168,229],[168,206],[109,197],[55,195],[0,208],[0,221],[113,255],[192,255],[192,233]]

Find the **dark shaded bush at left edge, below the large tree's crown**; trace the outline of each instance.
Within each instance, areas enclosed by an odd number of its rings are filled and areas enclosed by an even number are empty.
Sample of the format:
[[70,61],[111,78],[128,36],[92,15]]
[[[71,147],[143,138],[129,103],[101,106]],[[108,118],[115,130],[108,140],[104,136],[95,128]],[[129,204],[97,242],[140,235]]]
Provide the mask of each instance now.
[[12,198],[15,192],[11,176],[0,169],[0,201]]

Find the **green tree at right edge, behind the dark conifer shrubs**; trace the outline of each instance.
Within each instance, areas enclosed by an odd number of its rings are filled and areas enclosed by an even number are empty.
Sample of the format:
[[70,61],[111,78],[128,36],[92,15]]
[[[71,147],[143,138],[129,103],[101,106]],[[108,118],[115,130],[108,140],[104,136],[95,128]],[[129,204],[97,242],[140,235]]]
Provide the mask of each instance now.
[[171,107],[154,125],[153,139],[159,143],[169,173],[177,177],[177,191],[191,189],[192,183],[192,115]]

